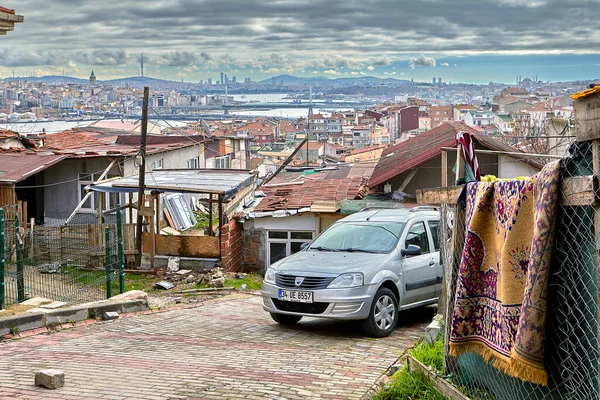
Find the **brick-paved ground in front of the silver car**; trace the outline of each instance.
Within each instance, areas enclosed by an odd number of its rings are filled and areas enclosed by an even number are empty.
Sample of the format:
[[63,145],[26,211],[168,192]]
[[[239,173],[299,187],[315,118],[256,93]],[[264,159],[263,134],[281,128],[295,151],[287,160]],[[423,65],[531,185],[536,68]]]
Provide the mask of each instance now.
[[[401,313],[394,334],[356,323],[277,325],[255,296],[139,315],[0,344],[0,399],[358,399],[423,333],[431,309]],[[61,369],[58,390],[34,372]]]

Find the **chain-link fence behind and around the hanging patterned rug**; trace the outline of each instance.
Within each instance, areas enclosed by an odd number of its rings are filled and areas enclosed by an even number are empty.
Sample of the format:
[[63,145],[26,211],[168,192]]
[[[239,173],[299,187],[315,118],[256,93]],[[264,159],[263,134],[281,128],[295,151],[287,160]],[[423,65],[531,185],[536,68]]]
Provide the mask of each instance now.
[[[455,205],[442,206],[441,256],[446,268],[445,367],[454,384],[471,399],[591,400],[599,396],[598,282],[600,268],[600,209],[596,206],[600,170],[597,149],[590,142],[574,143],[561,160],[560,204],[547,296],[545,369],[548,385],[510,377],[481,356],[449,356],[448,343],[455,303],[459,264],[465,243],[466,213]],[[594,159],[596,154],[596,159]]]

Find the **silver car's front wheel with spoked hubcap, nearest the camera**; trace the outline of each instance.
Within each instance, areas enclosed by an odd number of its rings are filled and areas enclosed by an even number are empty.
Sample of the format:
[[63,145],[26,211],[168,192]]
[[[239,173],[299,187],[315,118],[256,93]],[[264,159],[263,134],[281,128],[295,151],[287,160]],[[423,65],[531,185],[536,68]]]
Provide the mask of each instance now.
[[369,317],[360,321],[363,331],[371,337],[389,336],[398,322],[398,300],[396,295],[388,288],[379,288]]

